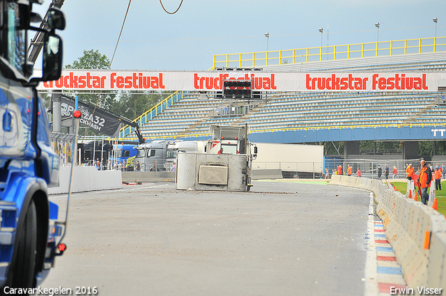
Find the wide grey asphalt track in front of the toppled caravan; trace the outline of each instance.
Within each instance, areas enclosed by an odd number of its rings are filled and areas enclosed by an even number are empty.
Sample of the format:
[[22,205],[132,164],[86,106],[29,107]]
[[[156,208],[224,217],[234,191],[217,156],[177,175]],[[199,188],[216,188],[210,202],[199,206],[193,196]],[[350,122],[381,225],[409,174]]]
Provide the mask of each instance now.
[[[62,205],[66,195],[51,196]],[[364,295],[369,192],[254,181],[73,194],[65,254],[41,288],[98,295]],[[88,295],[88,294],[84,294]]]

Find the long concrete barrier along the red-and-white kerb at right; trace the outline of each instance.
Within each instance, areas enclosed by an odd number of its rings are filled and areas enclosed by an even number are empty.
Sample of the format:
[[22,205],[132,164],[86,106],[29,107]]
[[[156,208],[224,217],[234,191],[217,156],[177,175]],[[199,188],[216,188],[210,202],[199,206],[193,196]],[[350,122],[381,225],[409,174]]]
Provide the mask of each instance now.
[[[404,279],[417,287],[446,288],[446,219],[433,208],[395,192],[390,183],[332,176],[330,185],[367,189],[375,194],[376,212],[386,229]],[[420,199],[419,199],[420,200]]]

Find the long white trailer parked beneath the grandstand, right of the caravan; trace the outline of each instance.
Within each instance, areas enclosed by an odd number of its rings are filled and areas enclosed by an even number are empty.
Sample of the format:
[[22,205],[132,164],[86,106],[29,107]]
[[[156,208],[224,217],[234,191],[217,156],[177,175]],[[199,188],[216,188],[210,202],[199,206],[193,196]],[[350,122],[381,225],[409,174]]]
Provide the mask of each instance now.
[[284,178],[313,178],[323,171],[323,146],[256,143],[253,170],[281,169]]

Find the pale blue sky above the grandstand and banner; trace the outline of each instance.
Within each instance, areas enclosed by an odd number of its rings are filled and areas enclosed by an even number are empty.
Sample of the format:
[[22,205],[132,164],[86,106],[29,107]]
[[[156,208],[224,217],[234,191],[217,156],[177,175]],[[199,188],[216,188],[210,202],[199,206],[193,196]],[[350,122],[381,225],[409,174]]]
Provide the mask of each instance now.
[[[34,11],[45,15],[51,0]],[[181,0],[162,0],[173,12]],[[112,60],[128,0],[65,0],[64,65],[84,50]],[[214,54],[446,36],[445,0],[132,0],[114,70],[208,70]],[[269,38],[265,37],[269,33]]]

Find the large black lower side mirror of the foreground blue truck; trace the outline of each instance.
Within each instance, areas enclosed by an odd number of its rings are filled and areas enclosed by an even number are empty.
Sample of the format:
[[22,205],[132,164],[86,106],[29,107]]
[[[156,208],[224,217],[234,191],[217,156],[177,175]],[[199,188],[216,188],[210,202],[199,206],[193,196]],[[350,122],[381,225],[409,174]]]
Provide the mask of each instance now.
[[42,81],[59,79],[62,73],[62,40],[57,35],[45,35],[43,44]]

